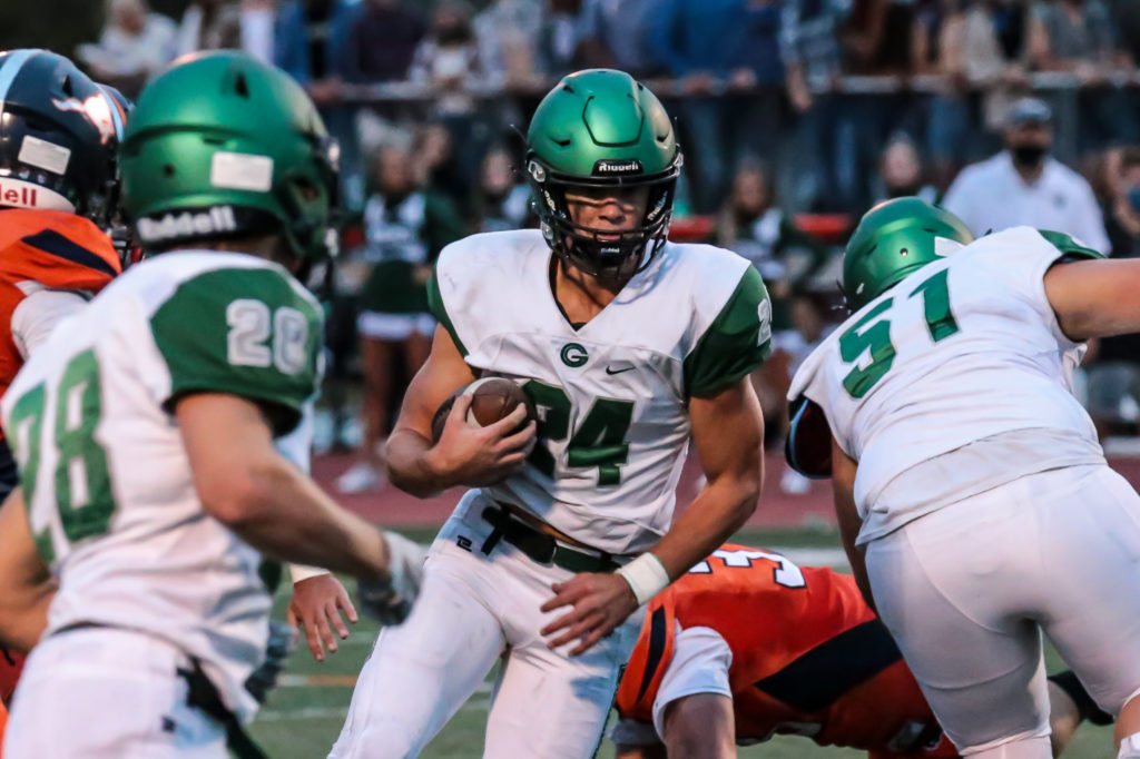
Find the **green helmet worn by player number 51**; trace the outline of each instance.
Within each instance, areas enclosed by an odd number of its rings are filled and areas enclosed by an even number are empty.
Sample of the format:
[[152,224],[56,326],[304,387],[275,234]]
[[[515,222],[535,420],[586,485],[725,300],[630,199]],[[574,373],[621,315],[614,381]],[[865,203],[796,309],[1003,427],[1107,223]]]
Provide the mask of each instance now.
[[946,255],[939,239],[974,242],[962,220],[918,197],[880,203],[865,214],[844,251],[844,295],[857,311],[912,272]]

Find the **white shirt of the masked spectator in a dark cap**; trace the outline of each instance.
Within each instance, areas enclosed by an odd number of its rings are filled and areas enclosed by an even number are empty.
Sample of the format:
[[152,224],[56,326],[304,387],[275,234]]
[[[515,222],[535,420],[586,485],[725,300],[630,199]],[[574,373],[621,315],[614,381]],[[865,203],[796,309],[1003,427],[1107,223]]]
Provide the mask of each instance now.
[[1041,177],[1027,185],[1007,150],[967,166],[946,190],[943,207],[975,235],[1019,225],[1065,232],[1106,255],[1108,235],[1089,182],[1047,157]]

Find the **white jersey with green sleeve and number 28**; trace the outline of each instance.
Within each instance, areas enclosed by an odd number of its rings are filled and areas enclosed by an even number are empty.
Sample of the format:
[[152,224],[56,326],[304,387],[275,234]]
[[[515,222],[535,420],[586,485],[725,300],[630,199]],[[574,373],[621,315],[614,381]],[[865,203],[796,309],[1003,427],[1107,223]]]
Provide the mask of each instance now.
[[48,635],[84,622],[150,632],[252,715],[262,558],[203,509],[173,403],[241,395],[288,433],[316,391],[321,338],[319,304],[283,268],[215,252],[132,267],[52,333],[2,402],[31,529],[60,582]]

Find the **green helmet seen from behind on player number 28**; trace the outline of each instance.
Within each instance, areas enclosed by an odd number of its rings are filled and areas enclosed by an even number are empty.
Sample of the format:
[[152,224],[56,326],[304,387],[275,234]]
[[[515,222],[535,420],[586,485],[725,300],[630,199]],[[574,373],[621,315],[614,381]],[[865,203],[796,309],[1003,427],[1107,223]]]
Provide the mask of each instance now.
[[301,261],[335,252],[337,148],[304,90],[236,51],[180,59],[142,92],[121,153],[144,248],[280,234]]

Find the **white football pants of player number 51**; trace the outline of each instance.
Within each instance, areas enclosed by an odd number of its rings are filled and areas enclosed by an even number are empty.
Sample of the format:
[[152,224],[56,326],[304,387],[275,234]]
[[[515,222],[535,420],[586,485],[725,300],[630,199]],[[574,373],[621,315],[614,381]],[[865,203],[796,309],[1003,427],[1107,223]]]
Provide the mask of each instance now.
[[[1140,497],[1107,466],[1021,478],[868,545],[879,615],[966,754],[1049,757],[1041,630],[1098,705],[1140,688]],[[1028,746],[1026,746],[1028,749]]]

